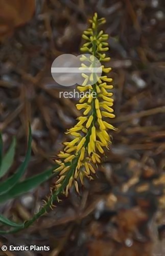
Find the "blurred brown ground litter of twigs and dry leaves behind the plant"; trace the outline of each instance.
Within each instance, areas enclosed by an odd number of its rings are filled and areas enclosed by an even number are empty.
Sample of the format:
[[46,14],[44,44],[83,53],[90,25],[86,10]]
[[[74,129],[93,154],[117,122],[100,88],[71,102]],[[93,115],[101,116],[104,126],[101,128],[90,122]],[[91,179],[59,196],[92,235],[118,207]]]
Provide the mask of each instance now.
[[[79,54],[87,20],[107,20],[114,83],[111,152],[80,196],[66,199],[32,227],[1,243],[46,245],[49,252],[1,255],[165,255],[165,3],[163,0],[0,1],[0,129],[5,148],[17,137],[15,167],[25,155],[28,120],[33,154],[26,177],[40,173],[75,124],[77,99],[59,99],[53,60]],[[3,10],[3,11],[2,11]],[[0,206],[14,220],[33,216],[50,184]]]

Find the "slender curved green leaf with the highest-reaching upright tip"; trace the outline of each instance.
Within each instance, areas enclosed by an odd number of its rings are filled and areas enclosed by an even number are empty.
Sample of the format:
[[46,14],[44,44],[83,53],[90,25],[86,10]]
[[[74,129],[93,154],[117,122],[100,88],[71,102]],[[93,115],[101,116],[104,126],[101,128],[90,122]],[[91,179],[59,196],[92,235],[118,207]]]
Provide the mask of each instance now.
[[15,174],[13,174],[6,181],[0,183],[0,195],[7,193],[7,191],[9,191],[19,181],[21,176],[25,173],[25,170],[27,168],[27,165],[31,157],[31,141],[32,141],[31,127],[29,126],[28,150],[27,150],[25,160],[18,167]]

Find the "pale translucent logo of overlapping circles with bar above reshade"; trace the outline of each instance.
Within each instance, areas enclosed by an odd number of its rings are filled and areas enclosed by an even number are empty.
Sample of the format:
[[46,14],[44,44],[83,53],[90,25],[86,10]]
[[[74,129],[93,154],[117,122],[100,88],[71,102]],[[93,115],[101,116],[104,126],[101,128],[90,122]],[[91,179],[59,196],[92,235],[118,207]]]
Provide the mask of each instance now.
[[102,65],[97,57],[90,54],[62,54],[53,61],[51,73],[61,86],[92,85],[101,77]]

